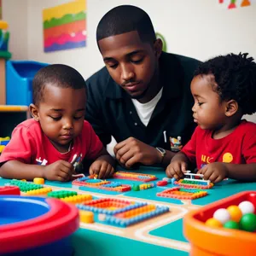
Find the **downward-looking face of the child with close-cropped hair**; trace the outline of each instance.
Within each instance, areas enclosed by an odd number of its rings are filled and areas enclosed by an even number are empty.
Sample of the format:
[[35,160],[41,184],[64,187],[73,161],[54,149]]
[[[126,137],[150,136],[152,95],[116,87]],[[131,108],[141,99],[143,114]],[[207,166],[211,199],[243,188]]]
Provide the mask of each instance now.
[[60,88],[47,84],[38,105],[38,120],[51,143],[60,152],[67,149],[84,125],[85,89]]

